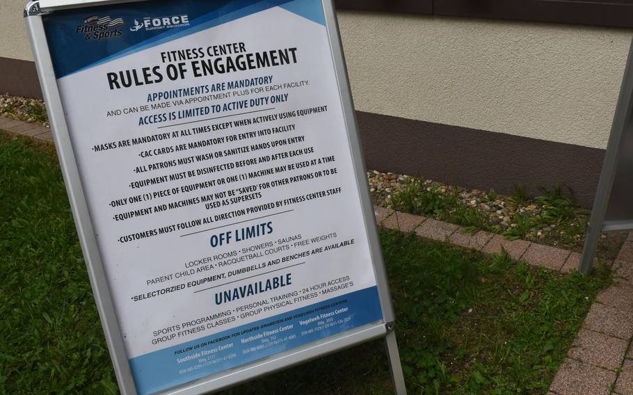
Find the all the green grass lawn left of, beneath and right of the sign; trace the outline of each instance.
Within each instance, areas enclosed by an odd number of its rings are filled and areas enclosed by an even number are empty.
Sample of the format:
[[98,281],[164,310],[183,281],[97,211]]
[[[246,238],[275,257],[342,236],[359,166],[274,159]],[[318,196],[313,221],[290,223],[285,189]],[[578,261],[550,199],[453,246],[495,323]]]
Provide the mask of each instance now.
[[[0,136],[0,394],[115,394],[52,152]],[[410,394],[545,394],[607,269],[562,275],[380,232]],[[389,394],[381,341],[225,394]]]

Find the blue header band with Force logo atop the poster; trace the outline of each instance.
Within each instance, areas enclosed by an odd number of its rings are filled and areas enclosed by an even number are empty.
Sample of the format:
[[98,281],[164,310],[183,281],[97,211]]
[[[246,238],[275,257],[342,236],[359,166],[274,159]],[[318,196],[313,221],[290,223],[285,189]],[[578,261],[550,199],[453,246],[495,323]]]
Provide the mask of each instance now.
[[325,25],[319,0],[154,0],[59,10],[42,19],[62,78],[277,6]]

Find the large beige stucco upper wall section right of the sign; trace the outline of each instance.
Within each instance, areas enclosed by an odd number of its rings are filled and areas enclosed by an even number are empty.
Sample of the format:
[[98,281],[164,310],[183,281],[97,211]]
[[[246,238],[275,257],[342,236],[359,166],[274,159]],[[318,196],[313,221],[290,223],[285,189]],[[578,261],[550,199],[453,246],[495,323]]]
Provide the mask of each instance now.
[[607,146],[631,31],[352,12],[339,24],[360,111]]

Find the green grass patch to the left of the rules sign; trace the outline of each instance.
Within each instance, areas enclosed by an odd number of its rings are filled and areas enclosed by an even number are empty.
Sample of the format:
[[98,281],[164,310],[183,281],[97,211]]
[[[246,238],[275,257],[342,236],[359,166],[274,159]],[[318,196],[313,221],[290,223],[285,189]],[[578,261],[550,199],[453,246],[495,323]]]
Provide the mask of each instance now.
[[0,393],[116,393],[56,157],[0,140]]

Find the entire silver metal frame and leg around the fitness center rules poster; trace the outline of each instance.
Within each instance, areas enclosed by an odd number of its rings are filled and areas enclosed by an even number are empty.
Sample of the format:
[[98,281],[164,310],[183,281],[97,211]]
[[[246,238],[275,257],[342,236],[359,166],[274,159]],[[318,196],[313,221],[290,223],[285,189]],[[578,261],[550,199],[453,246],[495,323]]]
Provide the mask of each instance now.
[[[102,322],[102,328],[109,347],[111,360],[118,380],[120,391],[124,395],[135,395],[136,387],[132,378],[127,355],[125,352],[122,333],[115,314],[115,307],[109,287],[106,284],[106,275],[102,257],[97,246],[95,230],[90,219],[88,204],[84,194],[77,161],[70,141],[70,133],[65,118],[60,92],[57,86],[56,75],[54,73],[53,62],[47,37],[45,35],[42,15],[54,13],[55,10],[64,8],[82,8],[86,6],[128,3],[134,0],[42,0],[40,8],[39,0],[31,0],[26,6],[24,17],[29,31],[33,57],[37,66],[40,85],[44,95],[51,129],[55,140],[59,163],[63,173],[67,195],[70,200],[74,222],[77,227],[77,234],[83,250],[83,257],[86,261],[86,268],[90,277],[90,284],[93,289],[95,303]],[[147,1],[147,0],[136,0]],[[159,394],[179,394],[195,395],[204,394],[211,391],[218,391],[227,387],[237,385],[247,380],[264,376],[274,371],[279,371],[296,364],[301,364],[308,360],[333,353],[343,348],[355,346],[357,344],[383,337],[387,348],[387,356],[390,362],[392,380],[396,394],[406,394],[406,387],[399,358],[399,351],[396,344],[394,332],[395,315],[387,284],[387,275],[380,250],[380,240],[378,238],[374,207],[371,203],[371,195],[367,187],[367,175],[364,168],[364,159],[360,146],[358,126],[355,120],[355,111],[351,96],[351,88],[348,83],[348,75],[342,43],[339,35],[339,28],[335,15],[335,8],[332,0],[322,0],[323,10],[326,17],[326,29],[329,36],[332,61],[335,66],[335,74],[339,94],[342,98],[342,108],[346,122],[348,141],[351,147],[351,157],[355,172],[360,198],[362,201],[362,212],[364,216],[364,226],[369,238],[371,248],[371,260],[374,267],[378,293],[380,296],[380,307],[383,312],[383,322],[372,323],[354,328],[346,332],[339,333],[332,337],[327,337],[313,343],[306,344],[295,349],[287,350],[283,353],[271,355],[264,360],[257,360],[246,365],[237,366],[234,369],[216,373],[200,380],[187,382],[186,384],[168,389]]]

